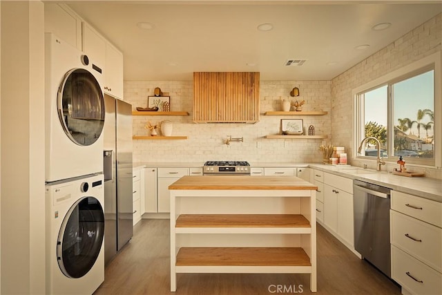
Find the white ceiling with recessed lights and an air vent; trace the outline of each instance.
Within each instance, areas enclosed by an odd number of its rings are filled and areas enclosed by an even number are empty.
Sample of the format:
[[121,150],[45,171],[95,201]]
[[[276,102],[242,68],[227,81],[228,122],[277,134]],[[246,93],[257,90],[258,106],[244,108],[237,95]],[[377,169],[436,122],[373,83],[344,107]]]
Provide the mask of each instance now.
[[[442,12],[440,0],[68,3],[122,50],[124,80],[130,81],[191,80],[198,71],[329,80]],[[138,22],[154,28],[143,30]],[[384,22],[392,26],[372,30]],[[258,31],[260,23],[272,23],[273,30]],[[363,44],[369,48],[355,49]],[[287,59],[307,61],[285,66]]]

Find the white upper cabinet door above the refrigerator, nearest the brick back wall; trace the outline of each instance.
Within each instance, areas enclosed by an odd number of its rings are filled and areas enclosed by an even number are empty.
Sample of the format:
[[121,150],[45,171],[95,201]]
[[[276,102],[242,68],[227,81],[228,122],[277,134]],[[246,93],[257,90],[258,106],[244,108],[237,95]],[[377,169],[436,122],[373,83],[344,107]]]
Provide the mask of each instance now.
[[106,42],[104,92],[123,99],[123,54],[109,42]]

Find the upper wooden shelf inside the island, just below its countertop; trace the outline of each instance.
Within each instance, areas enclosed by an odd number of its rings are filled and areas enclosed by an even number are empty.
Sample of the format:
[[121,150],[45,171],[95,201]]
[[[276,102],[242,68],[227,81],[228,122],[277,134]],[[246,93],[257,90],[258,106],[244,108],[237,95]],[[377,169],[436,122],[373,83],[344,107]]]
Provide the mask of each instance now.
[[181,214],[175,227],[310,227],[300,214]]

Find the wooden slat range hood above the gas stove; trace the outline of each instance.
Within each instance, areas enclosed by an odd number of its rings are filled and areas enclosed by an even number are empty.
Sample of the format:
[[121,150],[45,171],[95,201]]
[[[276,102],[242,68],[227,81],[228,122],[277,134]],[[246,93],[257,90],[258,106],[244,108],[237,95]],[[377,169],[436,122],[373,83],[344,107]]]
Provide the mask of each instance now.
[[193,122],[256,123],[260,116],[260,73],[193,73]]

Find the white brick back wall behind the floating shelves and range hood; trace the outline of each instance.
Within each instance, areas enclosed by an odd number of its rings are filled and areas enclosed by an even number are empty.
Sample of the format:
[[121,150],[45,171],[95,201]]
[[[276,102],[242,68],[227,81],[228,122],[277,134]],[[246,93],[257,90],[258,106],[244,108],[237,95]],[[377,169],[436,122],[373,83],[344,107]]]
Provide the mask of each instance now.
[[[305,111],[330,111],[331,82],[264,81],[260,82],[260,113],[281,111],[280,98],[289,97],[294,86],[300,89],[298,101],[305,99]],[[305,132],[313,124],[316,134],[330,135],[330,115],[260,116],[256,124],[195,124],[193,118],[193,82],[124,82],[124,99],[135,107],[147,106],[147,97],[160,87],[171,96],[171,111],[188,111],[190,116],[134,116],[134,135],[148,135],[148,120],[173,122],[173,135],[186,135],[187,140],[135,140],[134,162],[204,162],[206,160],[247,160],[249,162],[320,162],[318,150],[323,140],[271,140],[265,135],[280,132],[280,120],[300,118]],[[289,97],[295,100],[295,97]],[[244,137],[244,142],[224,144],[227,136]]]

